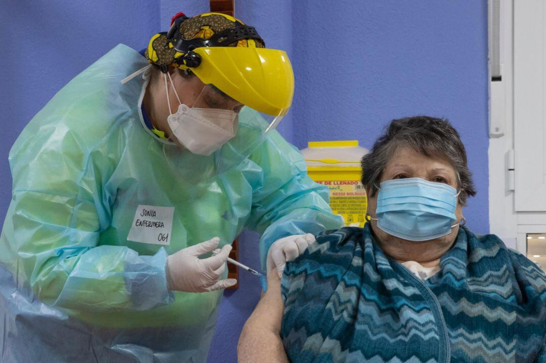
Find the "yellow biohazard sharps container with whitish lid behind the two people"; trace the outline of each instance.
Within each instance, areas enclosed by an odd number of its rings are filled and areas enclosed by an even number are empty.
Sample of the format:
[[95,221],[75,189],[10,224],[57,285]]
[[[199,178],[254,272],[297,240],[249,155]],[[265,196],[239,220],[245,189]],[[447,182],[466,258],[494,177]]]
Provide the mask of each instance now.
[[346,226],[363,227],[367,198],[360,183],[360,159],[369,153],[358,141],[312,141],[301,150],[307,173],[330,188],[330,207],[343,216]]

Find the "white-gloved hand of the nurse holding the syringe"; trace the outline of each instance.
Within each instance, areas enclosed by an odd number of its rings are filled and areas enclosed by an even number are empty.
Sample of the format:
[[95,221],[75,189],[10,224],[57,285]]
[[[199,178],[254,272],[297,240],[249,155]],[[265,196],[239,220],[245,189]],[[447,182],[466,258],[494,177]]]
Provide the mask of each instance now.
[[206,292],[225,289],[237,283],[235,279],[218,280],[225,271],[225,262],[232,246],[225,245],[212,257],[200,259],[199,256],[216,249],[220,239],[186,247],[167,257],[165,275],[169,290],[184,292]]

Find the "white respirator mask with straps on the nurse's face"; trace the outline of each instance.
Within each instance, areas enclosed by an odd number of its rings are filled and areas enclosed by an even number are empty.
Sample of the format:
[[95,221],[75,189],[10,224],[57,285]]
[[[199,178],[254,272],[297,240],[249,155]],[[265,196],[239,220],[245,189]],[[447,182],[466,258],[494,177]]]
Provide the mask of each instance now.
[[231,140],[237,134],[238,115],[232,110],[221,108],[188,107],[182,104],[174,88],[173,80],[168,74],[176,99],[179,101],[176,113],[171,112],[167,76],[164,75],[169,117],[167,123],[180,144],[197,155],[209,156]]

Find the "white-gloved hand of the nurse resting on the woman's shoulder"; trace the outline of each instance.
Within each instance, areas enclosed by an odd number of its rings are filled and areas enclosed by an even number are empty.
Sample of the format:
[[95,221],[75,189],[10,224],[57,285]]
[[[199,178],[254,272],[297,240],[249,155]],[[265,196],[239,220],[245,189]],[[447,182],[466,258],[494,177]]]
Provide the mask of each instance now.
[[286,262],[294,261],[314,241],[314,235],[311,233],[294,234],[277,239],[269,248],[266,262],[267,273],[269,274],[269,271],[276,267],[278,276],[282,277]]

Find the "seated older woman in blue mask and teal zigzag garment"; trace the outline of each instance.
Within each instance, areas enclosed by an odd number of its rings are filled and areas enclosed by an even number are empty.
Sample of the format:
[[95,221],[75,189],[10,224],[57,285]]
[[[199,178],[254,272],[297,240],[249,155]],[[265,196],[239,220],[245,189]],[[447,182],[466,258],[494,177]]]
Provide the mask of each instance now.
[[369,223],[269,274],[240,361],[546,362],[546,276],[464,227],[476,191],[447,120],[393,120],[362,168]]

